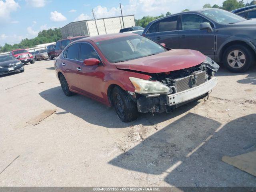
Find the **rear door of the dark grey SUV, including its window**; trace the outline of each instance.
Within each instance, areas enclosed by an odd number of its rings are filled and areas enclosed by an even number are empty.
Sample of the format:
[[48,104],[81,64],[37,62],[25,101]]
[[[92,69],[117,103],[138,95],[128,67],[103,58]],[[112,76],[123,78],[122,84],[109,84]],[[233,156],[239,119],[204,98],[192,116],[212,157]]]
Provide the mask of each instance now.
[[165,43],[168,48],[179,48],[178,16],[170,16],[153,23],[146,37]]

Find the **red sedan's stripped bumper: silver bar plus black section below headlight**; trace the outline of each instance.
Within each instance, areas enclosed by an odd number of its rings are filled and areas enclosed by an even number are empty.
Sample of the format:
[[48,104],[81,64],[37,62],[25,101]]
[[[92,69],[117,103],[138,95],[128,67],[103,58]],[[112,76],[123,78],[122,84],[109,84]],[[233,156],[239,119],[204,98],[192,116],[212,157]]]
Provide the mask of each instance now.
[[146,97],[140,95],[136,98],[138,111],[142,113],[171,112],[183,104],[204,98],[217,85],[217,82],[217,77],[214,77],[199,86],[167,96]]

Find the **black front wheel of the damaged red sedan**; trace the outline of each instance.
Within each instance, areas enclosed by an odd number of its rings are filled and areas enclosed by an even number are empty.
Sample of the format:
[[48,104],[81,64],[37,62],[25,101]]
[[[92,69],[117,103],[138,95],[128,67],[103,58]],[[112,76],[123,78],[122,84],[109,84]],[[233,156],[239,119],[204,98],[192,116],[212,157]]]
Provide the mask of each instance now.
[[136,103],[122,88],[114,88],[112,100],[117,116],[122,122],[130,122],[138,118]]

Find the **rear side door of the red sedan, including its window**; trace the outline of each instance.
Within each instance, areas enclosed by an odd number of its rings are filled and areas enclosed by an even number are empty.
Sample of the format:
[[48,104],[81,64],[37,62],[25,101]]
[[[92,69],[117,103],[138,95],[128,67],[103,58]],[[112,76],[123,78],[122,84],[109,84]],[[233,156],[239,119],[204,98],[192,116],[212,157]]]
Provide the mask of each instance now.
[[61,70],[64,72],[65,78],[71,89],[79,91],[77,68],[79,61],[79,46],[80,43],[70,45],[63,52],[63,59],[61,63]]

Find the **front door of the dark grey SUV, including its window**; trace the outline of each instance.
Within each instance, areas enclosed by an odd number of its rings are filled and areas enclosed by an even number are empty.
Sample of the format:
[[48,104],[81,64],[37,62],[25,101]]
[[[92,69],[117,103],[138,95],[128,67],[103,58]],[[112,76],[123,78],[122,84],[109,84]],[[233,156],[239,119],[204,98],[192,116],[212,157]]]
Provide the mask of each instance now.
[[180,48],[198,50],[214,58],[214,31],[200,30],[200,24],[203,22],[209,22],[214,28],[214,25],[202,16],[182,14],[181,30],[179,31]]

